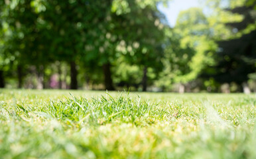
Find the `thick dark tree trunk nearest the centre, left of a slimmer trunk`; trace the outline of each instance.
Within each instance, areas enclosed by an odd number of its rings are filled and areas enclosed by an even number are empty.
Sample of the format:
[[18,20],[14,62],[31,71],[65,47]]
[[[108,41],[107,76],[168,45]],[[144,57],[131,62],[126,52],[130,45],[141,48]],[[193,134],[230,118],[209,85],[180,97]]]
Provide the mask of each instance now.
[[115,90],[115,88],[113,87],[113,81],[111,78],[111,71],[110,71],[110,64],[103,64],[103,74],[104,74],[104,78],[105,78],[105,89],[109,90],[109,91],[113,91]]

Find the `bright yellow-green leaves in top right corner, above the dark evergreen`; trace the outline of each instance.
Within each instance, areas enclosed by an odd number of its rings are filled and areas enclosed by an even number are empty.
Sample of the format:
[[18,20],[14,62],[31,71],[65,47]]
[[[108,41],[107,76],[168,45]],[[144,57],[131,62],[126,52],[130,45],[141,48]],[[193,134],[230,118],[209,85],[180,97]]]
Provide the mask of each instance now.
[[[232,38],[240,38],[243,34],[255,30],[255,24],[247,24],[242,30],[232,30],[226,26],[228,23],[240,23],[245,19],[245,16],[239,13],[232,13],[231,10],[237,7],[252,6],[249,1],[239,0],[209,0],[208,7],[212,9],[212,14],[208,17],[209,26],[212,28],[212,33],[216,40],[229,40]],[[247,2],[247,3],[246,3]],[[223,5],[223,3],[226,3]],[[254,13],[251,12],[251,15]],[[238,31],[238,32],[237,32]]]

